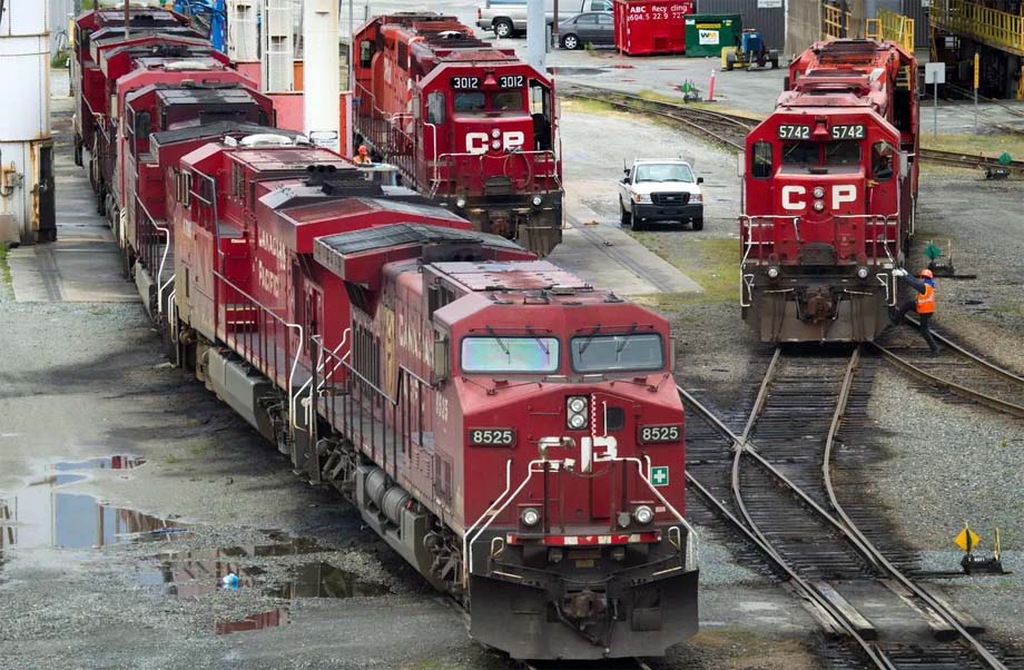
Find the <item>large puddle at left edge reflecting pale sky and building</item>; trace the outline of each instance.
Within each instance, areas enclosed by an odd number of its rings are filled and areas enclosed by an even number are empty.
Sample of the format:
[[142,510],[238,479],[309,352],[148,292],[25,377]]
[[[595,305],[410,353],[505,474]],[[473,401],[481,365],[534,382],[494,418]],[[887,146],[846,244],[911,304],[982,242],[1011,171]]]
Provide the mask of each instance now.
[[130,456],[105,456],[49,466],[43,476],[12,497],[0,499],[0,552],[13,546],[85,549],[174,536],[181,529],[173,522],[105,505],[91,495],[60,491],[65,484],[86,479],[75,471],[129,470],[142,463]]

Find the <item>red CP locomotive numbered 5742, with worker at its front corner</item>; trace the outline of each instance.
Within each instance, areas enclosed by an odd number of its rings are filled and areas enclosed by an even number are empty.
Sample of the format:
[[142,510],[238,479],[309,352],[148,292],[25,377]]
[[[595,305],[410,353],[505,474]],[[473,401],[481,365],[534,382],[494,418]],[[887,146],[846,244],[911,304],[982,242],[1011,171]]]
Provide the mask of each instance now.
[[740,303],[762,342],[867,342],[896,303],[917,197],[917,62],[818,42],[747,136]]

